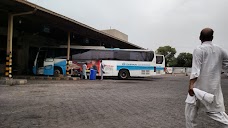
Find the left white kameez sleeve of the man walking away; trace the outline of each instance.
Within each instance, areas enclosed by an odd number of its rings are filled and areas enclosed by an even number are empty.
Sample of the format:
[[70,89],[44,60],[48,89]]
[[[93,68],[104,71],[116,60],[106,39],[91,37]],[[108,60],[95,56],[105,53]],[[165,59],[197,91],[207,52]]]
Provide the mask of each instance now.
[[192,55],[192,72],[190,75],[190,79],[194,79],[199,77],[201,65],[203,60],[203,54],[200,49],[195,49]]

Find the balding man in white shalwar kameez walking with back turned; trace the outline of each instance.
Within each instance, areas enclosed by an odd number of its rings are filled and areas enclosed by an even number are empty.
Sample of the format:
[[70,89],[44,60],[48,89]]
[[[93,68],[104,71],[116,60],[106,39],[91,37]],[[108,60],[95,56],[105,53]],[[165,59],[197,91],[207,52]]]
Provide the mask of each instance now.
[[222,127],[228,128],[228,116],[225,113],[223,94],[221,89],[222,64],[228,60],[227,53],[220,47],[212,44],[214,31],[205,28],[200,33],[202,44],[193,52],[192,72],[189,82],[189,95],[194,96],[193,88],[198,88],[213,94],[212,103],[197,100],[196,104],[186,103],[186,127],[196,127],[195,119],[199,108],[206,108],[207,115],[220,122]]

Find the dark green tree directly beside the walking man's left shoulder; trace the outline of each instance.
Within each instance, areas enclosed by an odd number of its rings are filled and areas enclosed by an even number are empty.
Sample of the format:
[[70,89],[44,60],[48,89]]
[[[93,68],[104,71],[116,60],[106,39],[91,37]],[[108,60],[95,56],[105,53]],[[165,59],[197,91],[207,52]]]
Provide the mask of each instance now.
[[192,54],[182,52],[177,56],[177,66],[192,67]]

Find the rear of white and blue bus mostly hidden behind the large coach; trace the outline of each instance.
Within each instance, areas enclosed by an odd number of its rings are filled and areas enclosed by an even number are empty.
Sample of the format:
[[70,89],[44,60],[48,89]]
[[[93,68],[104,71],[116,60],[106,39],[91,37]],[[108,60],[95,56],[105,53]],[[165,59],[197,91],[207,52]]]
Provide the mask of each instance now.
[[163,75],[165,74],[166,67],[165,67],[165,57],[164,55],[156,54],[156,74]]

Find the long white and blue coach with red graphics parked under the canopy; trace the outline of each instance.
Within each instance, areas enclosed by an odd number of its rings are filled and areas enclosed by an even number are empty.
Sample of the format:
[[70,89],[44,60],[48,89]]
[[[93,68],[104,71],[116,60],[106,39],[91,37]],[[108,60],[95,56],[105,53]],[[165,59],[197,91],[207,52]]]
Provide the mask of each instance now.
[[[67,47],[41,48],[34,61],[33,73],[41,75],[66,75]],[[107,49],[94,46],[71,46],[70,69],[72,74],[81,72],[82,65],[96,69],[100,75],[100,60],[104,65],[104,76],[148,77],[156,75],[154,51],[138,49]]]

